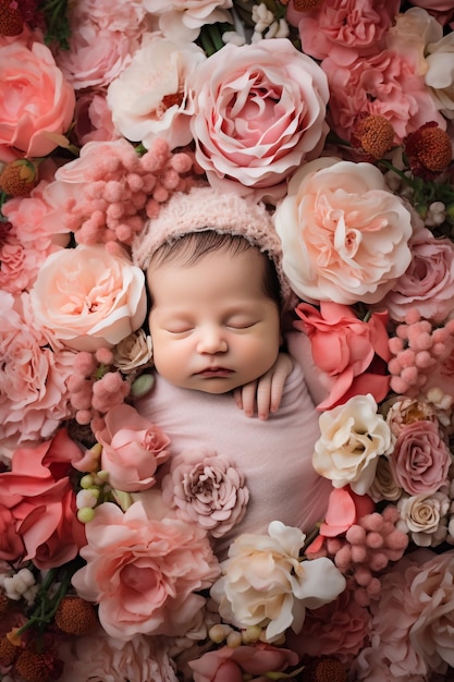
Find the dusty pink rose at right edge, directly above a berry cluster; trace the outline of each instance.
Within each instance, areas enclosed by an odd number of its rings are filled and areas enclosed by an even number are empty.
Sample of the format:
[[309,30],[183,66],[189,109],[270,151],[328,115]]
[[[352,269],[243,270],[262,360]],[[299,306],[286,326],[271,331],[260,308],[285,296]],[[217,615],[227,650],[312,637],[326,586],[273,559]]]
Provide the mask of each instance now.
[[381,305],[391,319],[402,322],[416,307],[421,317],[442,322],[454,310],[454,244],[417,230],[408,242],[412,260]]

